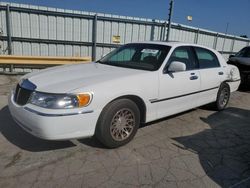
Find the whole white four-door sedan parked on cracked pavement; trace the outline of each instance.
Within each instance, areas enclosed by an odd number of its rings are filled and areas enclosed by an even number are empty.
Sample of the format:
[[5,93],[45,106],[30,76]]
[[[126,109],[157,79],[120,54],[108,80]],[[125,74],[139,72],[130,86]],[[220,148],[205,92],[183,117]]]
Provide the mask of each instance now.
[[141,123],[208,103],[227,106],[237,67],[217,51],[179,42],[123,45],[97,62],[22,77],[9,98],[14,120],[47,140],[95,135],[109,148],[128,143]]

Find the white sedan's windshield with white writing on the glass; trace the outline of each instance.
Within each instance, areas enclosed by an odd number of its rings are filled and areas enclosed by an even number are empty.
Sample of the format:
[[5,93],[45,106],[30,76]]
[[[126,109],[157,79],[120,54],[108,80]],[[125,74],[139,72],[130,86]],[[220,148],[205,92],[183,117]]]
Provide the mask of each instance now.
[[158,44],[126,44],[112,51],[97,63],[155,71],[166,58],[170,46]]

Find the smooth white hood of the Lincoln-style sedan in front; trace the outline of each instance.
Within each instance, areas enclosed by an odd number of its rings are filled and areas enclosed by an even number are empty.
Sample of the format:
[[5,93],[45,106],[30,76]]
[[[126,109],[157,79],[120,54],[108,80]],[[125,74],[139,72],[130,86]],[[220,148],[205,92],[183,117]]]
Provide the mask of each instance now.
[[37,91],[69,93],[78,88],[142,73],[145,73],[145,71],[99,63],[81,63],[52,67],[30,73],[23,79],[28,79],[35,84]]

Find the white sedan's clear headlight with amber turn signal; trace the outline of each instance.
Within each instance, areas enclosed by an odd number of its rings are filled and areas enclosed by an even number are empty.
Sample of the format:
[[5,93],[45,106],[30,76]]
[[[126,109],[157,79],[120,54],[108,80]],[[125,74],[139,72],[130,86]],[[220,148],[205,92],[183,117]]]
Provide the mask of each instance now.
[[34,92],[30,97],[30,103],[36,106],[50,109],[79,108],[89,105],[92,100],[91,93],[74,94],[49,94]]

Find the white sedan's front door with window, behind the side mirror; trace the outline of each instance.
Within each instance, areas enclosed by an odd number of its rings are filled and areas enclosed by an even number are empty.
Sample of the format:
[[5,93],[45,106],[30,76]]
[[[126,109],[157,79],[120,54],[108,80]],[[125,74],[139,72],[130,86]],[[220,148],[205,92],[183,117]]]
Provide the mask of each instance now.
[[[168,72],[173,61],[186,64],[186,71]],[[197,105],[196,93],[200,90],[200,74],[190,46],[175,48],[164,72],[159,73],[158,118],[193,108]]]

